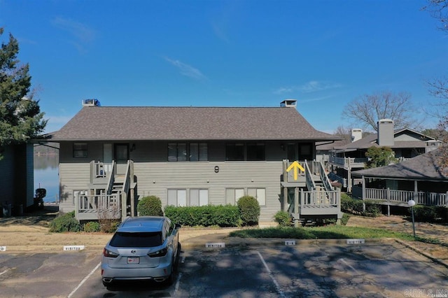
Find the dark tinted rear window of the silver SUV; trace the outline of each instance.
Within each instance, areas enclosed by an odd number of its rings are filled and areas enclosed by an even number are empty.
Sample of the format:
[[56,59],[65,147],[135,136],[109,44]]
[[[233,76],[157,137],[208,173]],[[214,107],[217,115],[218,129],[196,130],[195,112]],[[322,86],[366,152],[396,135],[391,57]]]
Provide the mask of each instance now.
[[111,246],[119,248],[147,248],[162,245],[160,232],[116,232],[111,239]]

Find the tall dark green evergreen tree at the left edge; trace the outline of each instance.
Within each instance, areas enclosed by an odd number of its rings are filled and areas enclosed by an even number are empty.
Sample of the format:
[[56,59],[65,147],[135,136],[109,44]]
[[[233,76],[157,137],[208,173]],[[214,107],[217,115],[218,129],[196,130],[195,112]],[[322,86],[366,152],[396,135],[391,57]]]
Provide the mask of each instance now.
[[2,41],[0,48],[0,159],[6,146],[36,138],[47,124],[33,100],[29,65],[19,64],[18,52],[18,41],[9,34],[8,43]]

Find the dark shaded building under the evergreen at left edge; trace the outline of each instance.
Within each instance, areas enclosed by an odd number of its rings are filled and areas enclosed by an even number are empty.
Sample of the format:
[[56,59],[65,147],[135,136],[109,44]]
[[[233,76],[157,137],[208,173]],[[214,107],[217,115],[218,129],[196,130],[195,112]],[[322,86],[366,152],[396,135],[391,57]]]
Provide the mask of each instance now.
[[3,148],[0,160],[0,214],[20,214],[34,204],[33,144],[23,143]]

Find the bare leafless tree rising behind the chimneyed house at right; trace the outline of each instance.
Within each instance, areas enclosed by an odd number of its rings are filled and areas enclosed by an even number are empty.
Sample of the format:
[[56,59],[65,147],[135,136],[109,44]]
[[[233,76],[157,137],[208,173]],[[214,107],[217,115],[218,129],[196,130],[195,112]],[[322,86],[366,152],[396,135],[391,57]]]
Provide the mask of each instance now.
[[416,122],[412,111],[411,94],[382,91],[356,97],[345,106],[342,117],[377,132],[377,122],[381,119],[393,120],[395,127],[414,128]]

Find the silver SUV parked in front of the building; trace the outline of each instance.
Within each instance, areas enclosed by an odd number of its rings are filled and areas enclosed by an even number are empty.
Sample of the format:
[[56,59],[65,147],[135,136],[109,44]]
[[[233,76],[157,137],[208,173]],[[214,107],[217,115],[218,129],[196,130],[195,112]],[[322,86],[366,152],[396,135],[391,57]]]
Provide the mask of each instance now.
[[127,218],[103,250],[103,285],[153,280],[171,285],[179,262],[179,229],[164,216]]

